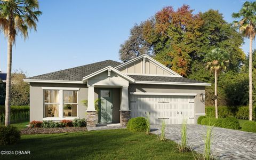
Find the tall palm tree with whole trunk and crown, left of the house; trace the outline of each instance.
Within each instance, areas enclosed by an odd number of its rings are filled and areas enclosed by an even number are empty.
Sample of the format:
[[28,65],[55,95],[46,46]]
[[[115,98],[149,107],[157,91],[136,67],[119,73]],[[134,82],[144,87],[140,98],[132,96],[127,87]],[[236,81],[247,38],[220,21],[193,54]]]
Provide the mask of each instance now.
[[7,76],[5,98],[5,125],[10,125],[10,95],[12,71],[12,46],[20,33],[24,38],[28,36],[28,29],[36,31],[36,22],[42,12],[39,11],[37,0],[1,0],[0,15],[7,22]]

